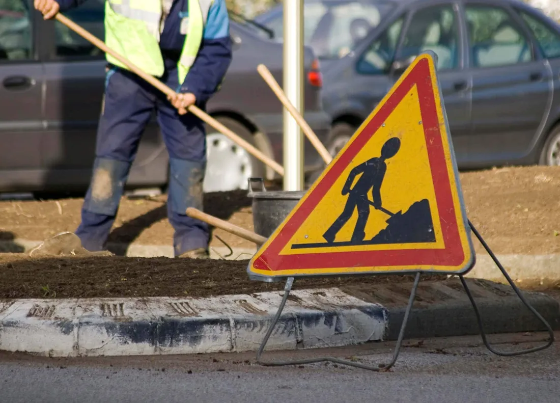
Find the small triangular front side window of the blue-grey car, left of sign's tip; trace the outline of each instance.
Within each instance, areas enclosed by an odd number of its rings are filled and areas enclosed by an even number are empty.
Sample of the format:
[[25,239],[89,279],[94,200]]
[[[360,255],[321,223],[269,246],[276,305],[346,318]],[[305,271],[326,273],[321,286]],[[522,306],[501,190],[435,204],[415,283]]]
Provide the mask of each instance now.
[[389,71],[395,57],[404,16],[398,18],[388,29],[376,38],[362,55],[356,70],[362,74],[385,74]]

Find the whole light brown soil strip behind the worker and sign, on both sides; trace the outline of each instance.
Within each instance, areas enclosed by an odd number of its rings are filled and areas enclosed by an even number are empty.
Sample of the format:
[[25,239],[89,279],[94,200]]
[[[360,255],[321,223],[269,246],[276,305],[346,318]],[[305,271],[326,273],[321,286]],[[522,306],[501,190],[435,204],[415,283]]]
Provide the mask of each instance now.
[[[560,167],[500,168],[460,174],[468,217],[496,253],[560,253]],[[251,200],[246,191],[207,193],[204,210],[253,230]],[[110,242],[171,245],[165,196],[123,198]],[[80,223],[81,199],[0,202],[0,239],[44,240]],[[254,248],[222,230],[212,246]],[[217,235],[217,237],[216,237]],[[483,252],[476,240],[477,252]],[[17,245],[15,245],[17,247]],[[17,250],[17,249],[12,249]]]

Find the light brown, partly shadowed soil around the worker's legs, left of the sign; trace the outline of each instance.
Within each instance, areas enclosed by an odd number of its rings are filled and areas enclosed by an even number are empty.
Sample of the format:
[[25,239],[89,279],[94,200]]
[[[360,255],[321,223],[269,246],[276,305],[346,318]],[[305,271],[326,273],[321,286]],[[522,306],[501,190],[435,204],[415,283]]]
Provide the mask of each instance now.
[[[45,240],[80,224],[83,199],[25,200],[0,202],[0,240],[16,238]],[[204,211],[242,228],[253,230],[251,199],[246,191],[204,194]],[[167,221],[166,196],[123,197],[108,242],[144,245],[172,245],[173,228]],[[222,247],[223,239],[231,247],[254,247],[226,231],[213,231],[212,246]],[[23,252],[23,250],[13,249]]]

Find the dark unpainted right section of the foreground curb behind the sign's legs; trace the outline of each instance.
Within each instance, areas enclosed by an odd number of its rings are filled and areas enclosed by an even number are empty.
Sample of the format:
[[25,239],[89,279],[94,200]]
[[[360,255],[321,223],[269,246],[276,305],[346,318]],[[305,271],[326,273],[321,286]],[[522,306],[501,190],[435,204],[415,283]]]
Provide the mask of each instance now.
[[[467,282],[482,317],[484,332],[492,334],[546,330],[543,323],[525,307],[509,285],[482,279],[468,279]],[[544,293],[522,293],[554,330],[560,329],[560,302]],[[405,333],[407,339],[480,333],[474,309],[459,280],[421,282],[417,300],[418,303],[410,312]],[[396,340],[398,337],[404,311],[403,304],[388,308],[389,327],[386,340]]]

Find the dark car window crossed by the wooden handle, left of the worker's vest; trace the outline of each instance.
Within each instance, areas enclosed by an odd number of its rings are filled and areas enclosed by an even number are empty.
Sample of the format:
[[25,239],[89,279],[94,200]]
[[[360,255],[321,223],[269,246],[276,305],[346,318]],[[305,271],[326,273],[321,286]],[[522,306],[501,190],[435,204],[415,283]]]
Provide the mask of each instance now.
[[[97,38],[105,39],[105,4],[104,0],[87,0],[80,7],[64,13],[76,24],[81,25]],[[74,33],[58,21],[55,24],[55,45],[58,57],[99,57],[103,52],[90,41]]]

